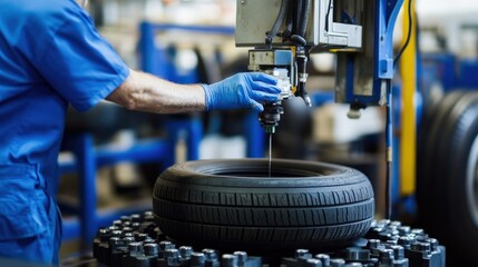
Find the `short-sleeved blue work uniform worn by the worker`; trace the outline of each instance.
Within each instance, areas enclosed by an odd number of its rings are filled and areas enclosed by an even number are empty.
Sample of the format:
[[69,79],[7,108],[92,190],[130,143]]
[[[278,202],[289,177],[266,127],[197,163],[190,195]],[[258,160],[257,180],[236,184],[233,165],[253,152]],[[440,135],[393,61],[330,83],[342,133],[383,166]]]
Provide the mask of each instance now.
[[0,0],[0,258],[58,261],[67,106],[91,108],[128,75],[74,0]]

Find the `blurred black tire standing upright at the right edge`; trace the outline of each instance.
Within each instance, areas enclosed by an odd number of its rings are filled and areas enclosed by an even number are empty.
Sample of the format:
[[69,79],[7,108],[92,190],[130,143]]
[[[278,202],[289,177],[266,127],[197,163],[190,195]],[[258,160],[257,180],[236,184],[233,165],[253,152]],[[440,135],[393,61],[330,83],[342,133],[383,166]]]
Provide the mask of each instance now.
[[472,266],[478,247],[478,92],[447,95],[428,120],[419,136],[428,140],[418,149],[419,215],[427,218],[426,230],[447,246],[449,266]]

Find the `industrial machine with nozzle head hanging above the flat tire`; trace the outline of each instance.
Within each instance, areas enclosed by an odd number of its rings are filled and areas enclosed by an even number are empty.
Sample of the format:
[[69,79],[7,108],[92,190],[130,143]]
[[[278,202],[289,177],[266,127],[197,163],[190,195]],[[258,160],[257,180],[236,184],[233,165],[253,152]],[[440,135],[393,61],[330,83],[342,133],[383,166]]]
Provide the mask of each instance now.
[[[391,169],[391,79],[393,26],[403,0],[237,0],[237,47],[248,51],[248,69],[275,76],[281,99],[264,103],[260,121],[274,134],[282,101],[297,96],[311,106],[305,89],[313,52],[338,53],[335,101],[350,103],[349,118],[368,106],[386,106],[387,161]],[[403,49],[402,49],[403,50]],[[389,180],[389,179],[388,179]],[[390,190],[390,189],[389,189]],[[388,200],[387,216],[390,216]]]

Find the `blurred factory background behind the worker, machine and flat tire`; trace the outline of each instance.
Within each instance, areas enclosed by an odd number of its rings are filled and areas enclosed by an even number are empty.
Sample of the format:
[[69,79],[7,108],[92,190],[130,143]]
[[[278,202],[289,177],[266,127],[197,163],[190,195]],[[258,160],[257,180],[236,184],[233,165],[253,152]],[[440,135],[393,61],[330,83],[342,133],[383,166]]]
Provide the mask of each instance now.
[[[478,221],[478,2],[417,0],[414,8],[412,37],[393,79],[392,216],[436,234],[469,214]],[[247,71],[247,49],[234,42],[235,9],[235,0],[90,0],[87,7],[128,66],[184,83],[212,83]],[[394,32],[397,50],[409,30],[403,13]],[[284,101],[273,158],[361,170],[374,187],[377,217],[383,218],[386,111],[368,107],[359,120],[349,119],[349,106],[333,101],[335,66],[333,53],[312,55],[313,107],[299,98]],[[465,112],[464,122],[458,115]],[[456,123],[462,126],[459,132]],[[70,109],[59,158],[62,257],[79,251],[81,241],[89,245],[98,227],[118,216],[149,210],[154,182],[173,164],[263,158],[267,149],[257,113],[248,110],[158,116],[108,102],[85,113]],[[452,170],[443,167],[448,164]],[[446,179],[462,179],[462,186]],[[470,195],[467,208],[451,201],[462,194]],[[443,208],[441,216],[433,214],[433,204]],[[461,230],[478,238],[478,224]],[[462,246],[476,243],[464,239]]]

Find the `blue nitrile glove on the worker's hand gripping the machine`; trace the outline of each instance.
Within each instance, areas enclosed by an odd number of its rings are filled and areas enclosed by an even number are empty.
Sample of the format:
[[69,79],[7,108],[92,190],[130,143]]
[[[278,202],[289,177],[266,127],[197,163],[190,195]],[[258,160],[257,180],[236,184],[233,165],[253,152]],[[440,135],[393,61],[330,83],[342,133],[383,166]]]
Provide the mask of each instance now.
[[264,110],[261,102],[274,102],[281,89],[277,80],[262,72],[244,72],[213,85],[202,85],[206,93],[206,110],[253,108]]

